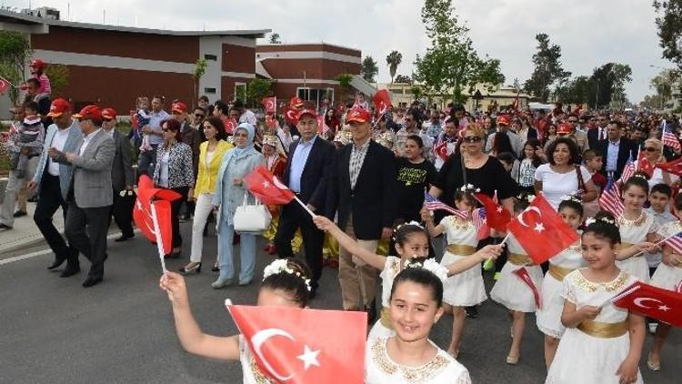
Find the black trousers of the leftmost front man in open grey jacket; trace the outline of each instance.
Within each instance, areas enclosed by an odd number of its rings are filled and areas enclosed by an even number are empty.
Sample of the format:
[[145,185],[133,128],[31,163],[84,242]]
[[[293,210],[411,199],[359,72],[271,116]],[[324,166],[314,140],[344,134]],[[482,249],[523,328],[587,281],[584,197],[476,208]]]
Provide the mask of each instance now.
[[77,251],[73,247],[68,247],[62,234],[56,229],[52,223],[52,217],[59,207],[62,207],[64,212],[64,221],[66,222],[66,213],[68,205],[64,198],[62,198],[62,191],[59,187],[59,177],[52,176],[47,172],[45,165],[45,173],[40,181],[40,192],[38,193],[38,204],[35,206],[33,220],[35,226],[40,229],[40,233],[45,237],[47,245],[50,246],[57,260],[64,260],[69,258],[72,254],[77,255]]

